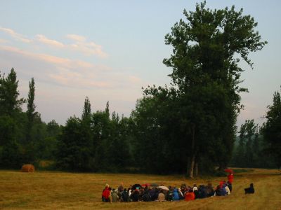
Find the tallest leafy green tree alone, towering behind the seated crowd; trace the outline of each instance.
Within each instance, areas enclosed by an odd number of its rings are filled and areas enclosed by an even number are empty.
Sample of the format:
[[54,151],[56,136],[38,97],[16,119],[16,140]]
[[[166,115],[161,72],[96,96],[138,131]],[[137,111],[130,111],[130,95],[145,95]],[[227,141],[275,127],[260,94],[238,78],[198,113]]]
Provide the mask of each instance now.
[[177,22],[165,36],[173,54],[163,62],[173,69],[169,76],[178,90],[179,121],[185,124],[183,138],[190,148],[186,162],[192,177],[206,156],[220,168],[228,164],[242,109],[239,93],[247,91],[240,87],[244,71],[240,58],[252,67],[249,52],[261,50],[266,41],[261,41],[254,18],[234,6],[211,10],[204,1],[197,3],[195,12],[183,13],[186,21]]

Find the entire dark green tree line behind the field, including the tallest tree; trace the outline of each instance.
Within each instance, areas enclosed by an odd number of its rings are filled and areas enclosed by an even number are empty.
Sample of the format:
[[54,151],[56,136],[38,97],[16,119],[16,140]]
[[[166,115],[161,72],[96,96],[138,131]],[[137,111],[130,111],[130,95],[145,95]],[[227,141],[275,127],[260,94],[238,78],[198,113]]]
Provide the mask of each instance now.
[[34,79],[25,100],[18,99],[15,71],[1,76],[0,166],[52,160],[55,169],[70,171],[193,177],[230,163],[248,167],[242,160],[255,160],[255,149],[272,153],[273,148],[276,154],[268,161],[273,167],[280,165],[274,163],[280,158],[279,92],[268,106],[262,136],[249,120],[235,146],[235,124],[243,108],[240,92],[247,92],[240,87],[244,71],[240,59],[252,66],[249,53],[266,45],[255,30],[254,18],[234,6],[211,10],[205,1],[197,3],[194,12],[183,13],[186,20],[177,22],[165,36],[166,45],[173,47],[171,57],[163,60],[172,69],[170,85],[143,88],[143,97],[128,118],[110,114],[108,102],[105,110],[93,111],[86,97],[81,118],[72,116],[64,126],[54,120],[44,123],[34,104]]

